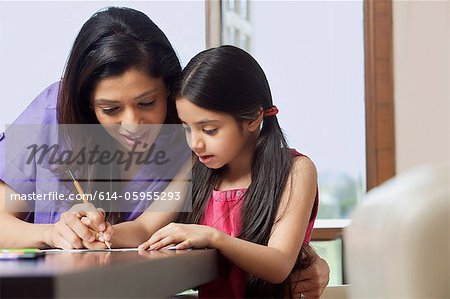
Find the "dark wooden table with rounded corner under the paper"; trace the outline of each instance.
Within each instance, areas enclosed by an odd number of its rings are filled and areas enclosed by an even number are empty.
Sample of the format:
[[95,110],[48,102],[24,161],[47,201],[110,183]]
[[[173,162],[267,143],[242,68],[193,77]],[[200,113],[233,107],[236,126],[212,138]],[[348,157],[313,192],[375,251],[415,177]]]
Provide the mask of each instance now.
[[0,261],[0,298],[167,298],[213,280],[215,249],[51,253]]

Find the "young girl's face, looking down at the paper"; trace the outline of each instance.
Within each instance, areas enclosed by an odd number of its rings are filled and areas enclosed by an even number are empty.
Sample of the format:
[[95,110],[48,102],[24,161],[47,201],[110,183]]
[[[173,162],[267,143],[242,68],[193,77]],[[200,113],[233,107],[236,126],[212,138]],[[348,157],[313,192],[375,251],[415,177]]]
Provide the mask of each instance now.
[[255,131],[254,122],[238,122],[231,115],[201,108],[191,101],[176,101],[186,140],[200,162],[218,169],[248,153]]

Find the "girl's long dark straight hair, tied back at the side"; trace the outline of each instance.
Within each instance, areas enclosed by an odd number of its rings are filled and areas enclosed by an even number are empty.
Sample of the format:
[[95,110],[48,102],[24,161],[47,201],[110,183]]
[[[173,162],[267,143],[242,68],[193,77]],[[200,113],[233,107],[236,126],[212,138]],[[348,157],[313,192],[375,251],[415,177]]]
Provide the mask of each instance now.
[[[273,106],[264,71],[250,54],[233,46],[209,49],[192,58],[182,72],[177,97],[230,114],[237,121],[255,120],[261,109]],[[242,206],[240,238],[268,244],[291,164],[291,153],[277,117],[264,118],[253,155],[252,182]],[[180,214],[180,222],[201,221],[222,171],[195,163],[192,213]],[[245,297],[284,297],[289,290],[287,285],[288,281],[273,285],[249,276]]]

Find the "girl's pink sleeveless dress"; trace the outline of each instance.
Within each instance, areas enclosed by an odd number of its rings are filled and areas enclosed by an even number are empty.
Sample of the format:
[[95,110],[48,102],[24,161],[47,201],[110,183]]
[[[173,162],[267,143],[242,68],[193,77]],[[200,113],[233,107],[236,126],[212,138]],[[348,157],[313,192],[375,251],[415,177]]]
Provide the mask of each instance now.
[[[293,156],[302,156],[292,150]],[[226,191],[213,190],[200,224],[214,227],[232,237],[241,232],[241,208],[246,189]],[[311,240],[311,232],[319,207],[319,193],[316,192],[304,244]],[[219,277],[199,288],[199,298],[243,298],[245,293],[246,273],[239,267],[221,257]]]

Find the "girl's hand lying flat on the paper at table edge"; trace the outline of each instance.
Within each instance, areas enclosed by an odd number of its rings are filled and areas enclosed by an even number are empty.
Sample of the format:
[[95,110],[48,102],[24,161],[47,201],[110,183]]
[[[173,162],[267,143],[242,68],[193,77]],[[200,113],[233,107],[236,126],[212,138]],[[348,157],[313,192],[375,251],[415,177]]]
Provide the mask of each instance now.
[[214,247],[214,239],[220,231],[206,225],[170,223],[154,233],[140,250],[158,250],[170,244],[175,249]]

